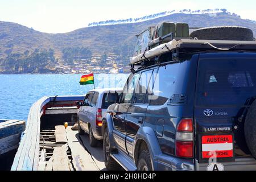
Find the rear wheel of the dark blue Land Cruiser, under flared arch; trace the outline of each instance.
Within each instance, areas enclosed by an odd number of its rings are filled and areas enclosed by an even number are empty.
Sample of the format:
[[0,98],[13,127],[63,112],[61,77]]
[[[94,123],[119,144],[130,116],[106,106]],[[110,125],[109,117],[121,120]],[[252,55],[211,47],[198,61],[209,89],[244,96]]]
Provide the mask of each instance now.
[[150,153],[148,150],[141,151],[138,160],[138,171],[152,171]]

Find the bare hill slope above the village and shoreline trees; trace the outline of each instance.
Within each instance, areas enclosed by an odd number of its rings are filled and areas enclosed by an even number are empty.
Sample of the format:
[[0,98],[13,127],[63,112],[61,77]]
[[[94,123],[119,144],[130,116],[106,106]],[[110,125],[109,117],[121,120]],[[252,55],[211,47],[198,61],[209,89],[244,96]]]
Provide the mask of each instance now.
[[[155,26],[155,24],[163,21],[187,22],[190,27],[243,26],[251,28],[254,35],[256,35],[255,22],[241,19],[240,16],[227,13],[226,11],[201,14],[172,13],[142,22],[90,26],[65,34],[47,34],[17,23],[0,22],[0,73],[23,73],[18,71],[19,68],[14,69],[16,61],[23,60],[20,63],[30,64],[30,62],[27,62],[24,53],[26,52],[26,55],[30,56],[30,60],[33,61],[36,59],[36,52],[44,49],[46,51],[51,49],[50,52],[53,50],[54,56],[61,60],[63,59],[64,49],[68,49],[68,53],[71,55],[69,59],[73,59],[77,57],[76,49],[74,48],[81,49],[83,47],[89,50],[89,53],[85,53],[85,57],[91,58],[93,55],[100,57],[106,55],[108,57],[109,54],[114,53],[115,56],[120,57],[119,60],[122,60],[123,64],[127,64],[129,56],[133,52],[136,40],[135,35],[145,30],[148,26]],[[35,49],[37,49],[36,52]],[[16,55],[17,53],[18,56]],[[31,58],[33,53],[34,57]],[[19,59],[15,60],[15,57],[19,57]],[[48,59],[47,57],[49,56],[45,57]],[[9,61],[6,60],[13,61],[14,67],[7,68],[6,64]],[[52,58],[49,60],[52,60]],[[117,59],[116,62],[119,60]],[[65,61],[67,59],[64,59]],[[71,62],[72,60],[69,61],[69,63]],[[60,64],[59,61],[44,61],[43,66],[47,67],[48,63]],[[30,69],[24,73],[28,72],[35,73],[40,71],[31,71]]]

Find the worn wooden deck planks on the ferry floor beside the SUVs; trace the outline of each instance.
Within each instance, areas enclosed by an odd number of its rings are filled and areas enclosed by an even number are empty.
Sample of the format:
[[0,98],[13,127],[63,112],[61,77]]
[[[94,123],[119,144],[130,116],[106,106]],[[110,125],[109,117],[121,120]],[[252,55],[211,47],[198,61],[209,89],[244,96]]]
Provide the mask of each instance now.
[[78,134],[71,126],[55,126],[43,130],[40,140],[40,171],[101,171],[105,170],[102,144],[92,148],[88,135]]

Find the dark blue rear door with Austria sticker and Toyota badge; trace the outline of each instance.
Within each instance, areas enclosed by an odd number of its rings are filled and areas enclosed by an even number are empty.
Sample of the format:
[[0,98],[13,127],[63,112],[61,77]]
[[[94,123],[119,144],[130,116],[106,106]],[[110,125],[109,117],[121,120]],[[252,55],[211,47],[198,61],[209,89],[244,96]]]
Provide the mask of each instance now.
[[200,55],[194,114],[198,169],[206,169],[210,151],[225,169],[256,169],[245,142],[244,118],[238,121],[246,101],[256,95],[255,68],[255,53]]

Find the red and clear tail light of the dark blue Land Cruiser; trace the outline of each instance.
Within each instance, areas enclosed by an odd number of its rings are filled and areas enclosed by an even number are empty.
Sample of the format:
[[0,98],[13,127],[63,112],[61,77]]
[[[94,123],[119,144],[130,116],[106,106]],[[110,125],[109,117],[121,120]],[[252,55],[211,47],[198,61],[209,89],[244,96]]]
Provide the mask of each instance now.
[[176,132],[176,156],[193,157],[193,120],[181,119]]

